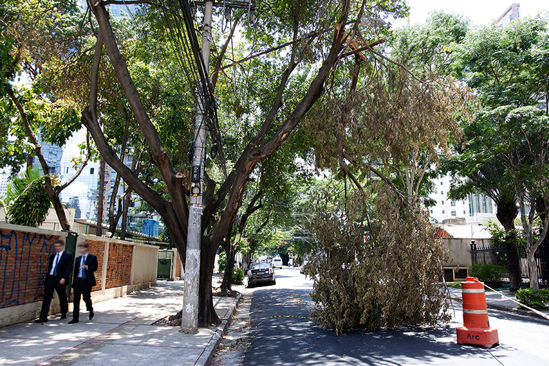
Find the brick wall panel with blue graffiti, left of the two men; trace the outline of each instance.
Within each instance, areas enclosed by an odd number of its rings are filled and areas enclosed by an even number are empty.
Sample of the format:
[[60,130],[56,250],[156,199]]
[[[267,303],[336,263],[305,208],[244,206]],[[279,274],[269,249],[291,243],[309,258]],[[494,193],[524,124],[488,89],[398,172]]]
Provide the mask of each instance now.
[[0,229],[0,308],[42,300],[52,243],[59,238]]

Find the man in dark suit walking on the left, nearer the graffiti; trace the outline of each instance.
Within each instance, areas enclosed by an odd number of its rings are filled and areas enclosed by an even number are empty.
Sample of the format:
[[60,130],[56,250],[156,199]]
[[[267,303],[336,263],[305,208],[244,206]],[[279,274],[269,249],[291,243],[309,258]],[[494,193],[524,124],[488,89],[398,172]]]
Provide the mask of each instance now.
[[67,311],[69,310],[67,285],[73,268],[73,256],[64,250],[65,242],[63,240],[56,240],[53,245],[56,253],[49,256],[47,275],[44,282],[44,300],[42,301],[40,318],[35,320],[36,323],[45,323],[47,321],[47,313],[49,312],[51,299],[54,297],[54,290],[61,305],[61,319],[67,318]]

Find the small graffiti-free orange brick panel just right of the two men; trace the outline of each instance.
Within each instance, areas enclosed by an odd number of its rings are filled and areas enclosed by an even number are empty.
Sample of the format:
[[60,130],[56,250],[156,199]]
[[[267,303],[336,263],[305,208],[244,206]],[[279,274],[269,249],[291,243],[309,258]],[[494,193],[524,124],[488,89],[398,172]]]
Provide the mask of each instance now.
[[130,284],[132,277],[132,250],[127,244],[111,242],[108,249],[105,288]]

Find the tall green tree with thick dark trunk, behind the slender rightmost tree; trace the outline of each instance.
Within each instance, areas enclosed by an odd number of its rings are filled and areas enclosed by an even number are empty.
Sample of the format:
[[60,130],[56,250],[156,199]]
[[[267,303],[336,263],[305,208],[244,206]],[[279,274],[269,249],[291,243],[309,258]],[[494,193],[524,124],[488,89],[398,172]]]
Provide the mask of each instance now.
[[[501,130],[505,128],[495,122],[506,120],[505,113],[497,111],[499,106],[517,108],[538,105],[544,100],[548,113],[549,38],[546,24],[543,16],[537,16],[517,19],[504,27],[489,25],[471,29],[463,43],[455,47],[459,54],[458,75],[476,89],[482,106],[493,108],[493,113],[483,111],[479,114],[482,121],[464,126],[464,139],[456,144],[457,155],[447,161],[446,169],[469,178],[468,182],[453,189],[454,197],[482,192],[497,205],[496,216],[509,233],[507,266],[513,290],[518,289],[520,282],[514,224],[519,211],[517,185],[509,176],[510,152],[496,148],[500,146]],[[510,112],[509,108],[504,111]],[[487,122],[487,115],[494,119]],[[518,140],[514,141],[520,145]]]

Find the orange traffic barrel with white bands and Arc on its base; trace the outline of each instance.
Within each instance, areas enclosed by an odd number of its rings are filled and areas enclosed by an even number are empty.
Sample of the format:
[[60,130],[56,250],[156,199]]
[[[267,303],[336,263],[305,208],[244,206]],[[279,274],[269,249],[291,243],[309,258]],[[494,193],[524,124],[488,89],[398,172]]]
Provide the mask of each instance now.
[[484,284],[476,277],[461,282],[463,295],[463,327],[458,327],[459,345],[482,345],[491,348],[500,344],[498,330],[490,328]]

